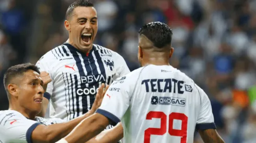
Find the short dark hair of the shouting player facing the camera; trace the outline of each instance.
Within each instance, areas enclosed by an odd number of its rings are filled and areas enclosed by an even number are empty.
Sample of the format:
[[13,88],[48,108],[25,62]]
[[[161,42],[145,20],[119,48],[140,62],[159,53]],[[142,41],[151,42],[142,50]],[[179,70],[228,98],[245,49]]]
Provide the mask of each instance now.
[[77,0],[76,2],[74,2],[74,3],[72,3],[71,5],[68,6],[67,11],[66,11],[66,19],[68,19],[69,16],[72,15],[72,12],[78,6],[94,7],[94,4],[92,4],[88,0]]

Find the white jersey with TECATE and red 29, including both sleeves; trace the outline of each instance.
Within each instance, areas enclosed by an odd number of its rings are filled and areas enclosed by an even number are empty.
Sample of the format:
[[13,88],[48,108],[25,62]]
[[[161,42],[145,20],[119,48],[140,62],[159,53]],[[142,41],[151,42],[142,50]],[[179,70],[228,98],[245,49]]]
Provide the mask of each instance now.
[[192,143],[195,128],[216,128],[207,95],[171,66],[149,65],[117,79],[97,112],[121,119],[126,143]]

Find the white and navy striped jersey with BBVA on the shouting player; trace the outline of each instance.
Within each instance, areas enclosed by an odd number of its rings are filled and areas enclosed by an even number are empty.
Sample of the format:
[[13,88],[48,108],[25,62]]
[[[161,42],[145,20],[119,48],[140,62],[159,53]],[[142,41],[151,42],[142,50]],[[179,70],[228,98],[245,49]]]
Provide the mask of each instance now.
[[50,74],[45,95],[50,98],[50,117],[71,120],[86,113],[94,103],[101,83],[130,73],[118,53],[93,45],[89,54],[64,43],[46,53],[36,66]]

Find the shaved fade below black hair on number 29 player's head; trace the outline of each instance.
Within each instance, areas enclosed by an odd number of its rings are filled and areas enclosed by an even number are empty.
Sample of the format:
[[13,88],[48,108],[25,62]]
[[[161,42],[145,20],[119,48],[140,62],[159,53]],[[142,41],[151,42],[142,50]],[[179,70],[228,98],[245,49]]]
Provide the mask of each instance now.
[[152,41],[150,41],[145,35],[139,36],[139,47],[141,47],[143,50],[149,51],[149,52],[163,52],[166,53],[171,49],[171,45],[166,45],[165,47],[158,48],[154,45]]

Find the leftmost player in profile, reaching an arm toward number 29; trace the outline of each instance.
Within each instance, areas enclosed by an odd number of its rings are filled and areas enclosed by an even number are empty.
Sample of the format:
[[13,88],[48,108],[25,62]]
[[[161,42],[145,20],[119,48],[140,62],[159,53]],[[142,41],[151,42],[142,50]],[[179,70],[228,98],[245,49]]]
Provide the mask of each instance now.
[[[10,67],[4,76],[4,86],[9,99],[9,110],[0,111],[0,142],[54,142],[66,136],[83,119],[94,113],[102,101],[104,84],[92,109],[72,121],[61,119],[43,119],[36,115],[42,109],[43,84],[50,82],[45,76],[43,83],[39,69],[33,64],[18,64]],[[106,87],[107,88],[107,87]],[[65,123],[66,122],[66,123]],[[56,124],[59,123],[59,124]],[[117,127],[113,128],[117,129]],[[89,142],[117,142],[113,138],[121,129],[109,129]],[[112,138],[112,139],[111,139]]]

